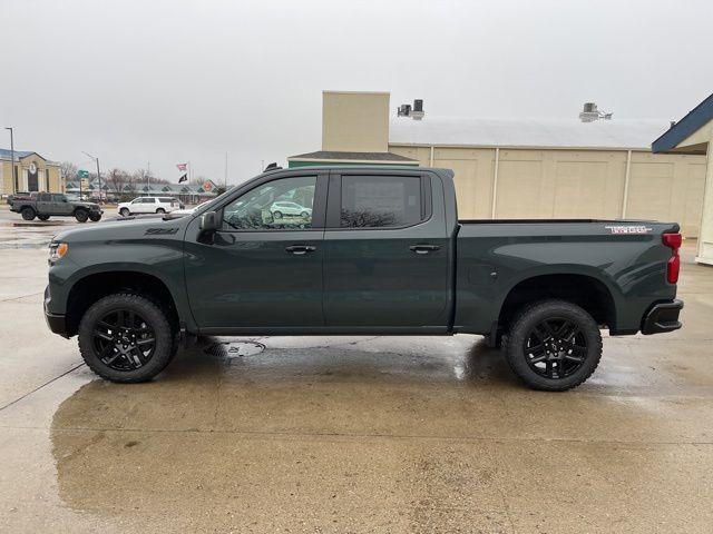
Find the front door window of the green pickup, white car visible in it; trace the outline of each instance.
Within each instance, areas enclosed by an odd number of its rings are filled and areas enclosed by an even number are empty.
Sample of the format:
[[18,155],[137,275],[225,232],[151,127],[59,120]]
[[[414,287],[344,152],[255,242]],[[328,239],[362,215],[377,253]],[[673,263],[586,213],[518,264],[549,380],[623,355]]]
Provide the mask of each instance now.
[[223,226],[235,230],[312,228],[315,176],[272,180],[251,189],[223,210]]

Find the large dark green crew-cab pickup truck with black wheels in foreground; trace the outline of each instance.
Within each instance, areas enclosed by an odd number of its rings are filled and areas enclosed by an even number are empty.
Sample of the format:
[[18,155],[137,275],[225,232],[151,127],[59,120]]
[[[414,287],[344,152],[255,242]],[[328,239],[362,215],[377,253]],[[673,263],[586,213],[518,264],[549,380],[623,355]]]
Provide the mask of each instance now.
[[264,172],[191,215],[50,245],[45,314],[100,376],[154,377],[205,335],[486,335],[531,387],[594,373],[599,330],[681,327],[678,225],[459,220],[450,170]]

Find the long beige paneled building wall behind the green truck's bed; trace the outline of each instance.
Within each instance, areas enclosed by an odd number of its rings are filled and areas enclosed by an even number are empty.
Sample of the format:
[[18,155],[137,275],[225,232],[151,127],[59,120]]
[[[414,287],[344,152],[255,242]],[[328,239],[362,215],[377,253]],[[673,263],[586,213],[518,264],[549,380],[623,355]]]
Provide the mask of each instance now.
[[[495,148],[391,145],[389,150],[422,166],[453,169],[460,218],[492,216]],[[501,148],[495,217],[646,218],[680,222],[685,236],[697,237],[705,156],[633,150],[628,157],[626,150]]]

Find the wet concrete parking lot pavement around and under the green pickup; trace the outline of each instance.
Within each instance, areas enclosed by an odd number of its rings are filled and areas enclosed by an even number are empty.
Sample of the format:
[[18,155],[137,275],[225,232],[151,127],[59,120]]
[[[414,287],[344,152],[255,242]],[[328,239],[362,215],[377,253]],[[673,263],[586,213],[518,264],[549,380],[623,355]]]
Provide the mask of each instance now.
[[711,532],[695,243],[684,328],[606,338],[568,393],[465,335],[211,338],[116,385],[42,317],[47,243],[74,225],[0,208],[2,532]]

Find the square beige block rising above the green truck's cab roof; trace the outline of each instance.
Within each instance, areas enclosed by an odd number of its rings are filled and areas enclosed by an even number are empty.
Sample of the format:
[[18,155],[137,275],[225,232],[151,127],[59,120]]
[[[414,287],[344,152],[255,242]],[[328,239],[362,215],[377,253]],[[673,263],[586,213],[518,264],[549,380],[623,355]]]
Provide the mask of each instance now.
[[322,150],[385,152],[388,92],[322,92]]

